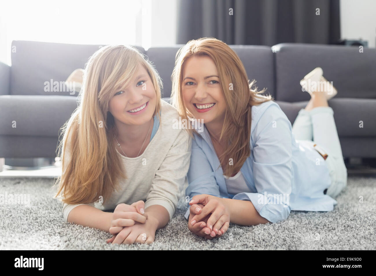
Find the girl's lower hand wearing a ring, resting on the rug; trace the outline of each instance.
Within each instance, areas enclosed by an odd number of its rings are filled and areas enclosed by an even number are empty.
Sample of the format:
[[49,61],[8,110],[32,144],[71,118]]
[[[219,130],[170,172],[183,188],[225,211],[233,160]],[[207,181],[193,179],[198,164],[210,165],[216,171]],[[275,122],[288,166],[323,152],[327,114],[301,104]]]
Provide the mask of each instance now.
[[146,243],[150,244],[155,239],[155,231],[158,228],[158,222],[154,217],[149,216],[145,223],[136,222],[135,225],[124,227],[118,234],[106,240],[107,243],[132,244]]

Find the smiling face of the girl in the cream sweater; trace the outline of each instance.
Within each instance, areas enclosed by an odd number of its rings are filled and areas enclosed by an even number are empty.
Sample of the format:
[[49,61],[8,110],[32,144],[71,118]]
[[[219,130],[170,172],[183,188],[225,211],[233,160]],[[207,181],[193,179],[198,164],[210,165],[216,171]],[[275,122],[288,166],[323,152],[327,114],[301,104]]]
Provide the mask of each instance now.
[[123,124],[142,125],[153,117],[156,98],[149,74],[144,66],[139,65],[128,87],[113,92],[109,112]]

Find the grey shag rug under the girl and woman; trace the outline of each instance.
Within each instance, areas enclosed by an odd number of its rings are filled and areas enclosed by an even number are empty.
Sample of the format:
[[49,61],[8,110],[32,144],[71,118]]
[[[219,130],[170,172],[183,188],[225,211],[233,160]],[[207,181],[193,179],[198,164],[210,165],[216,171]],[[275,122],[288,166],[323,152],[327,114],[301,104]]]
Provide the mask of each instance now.
[[[206,240],[190,232],[184,197],[152,244],[107,244],[111,234],[65,222],[54,179],[0,178],[0,196],[30,194],[30,206],[0,205],[0,250],[371,250],[376,247],[376,177],[349,176],[331,212],[292,211],[287,220],[230,228]],[[362,200],[361,200],[362,199]]]

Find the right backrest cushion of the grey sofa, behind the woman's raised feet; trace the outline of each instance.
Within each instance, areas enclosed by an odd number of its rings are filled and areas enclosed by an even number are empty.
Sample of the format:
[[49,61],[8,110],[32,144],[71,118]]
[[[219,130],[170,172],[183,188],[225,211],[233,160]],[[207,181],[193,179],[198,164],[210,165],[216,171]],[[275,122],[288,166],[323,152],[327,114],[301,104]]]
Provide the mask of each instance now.
[[300,80],[316,67],[338,90],[336,98],[376,98],[376,49],[358,46],[281,43],[275,57],[278,101],[308,101]]

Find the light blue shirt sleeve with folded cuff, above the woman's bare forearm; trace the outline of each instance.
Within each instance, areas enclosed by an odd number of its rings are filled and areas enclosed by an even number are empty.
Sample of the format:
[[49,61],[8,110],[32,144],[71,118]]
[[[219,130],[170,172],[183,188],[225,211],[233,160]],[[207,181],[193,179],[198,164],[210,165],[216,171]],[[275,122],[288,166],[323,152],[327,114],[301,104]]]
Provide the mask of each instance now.
[[269,106],[254,128],[253,178],[257,193],[238,193],[233,199],[249,200],[260,216],[279,222],[290,215],[292,190],[292,131],[285,113]]

